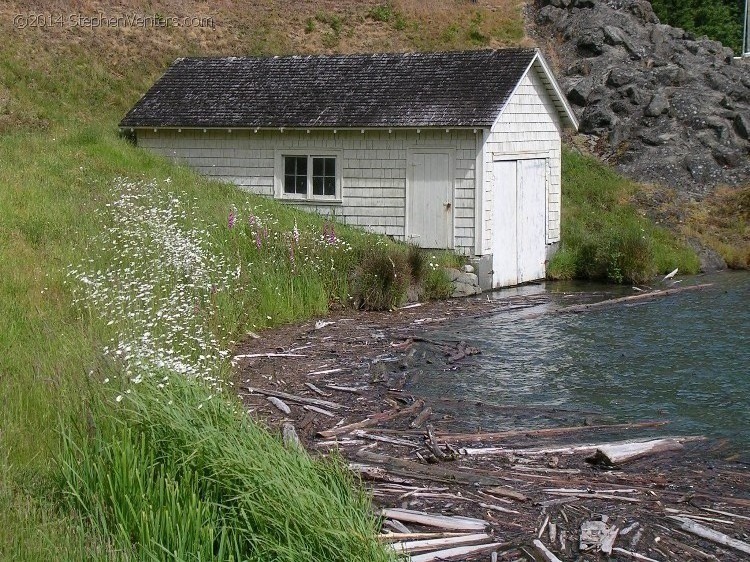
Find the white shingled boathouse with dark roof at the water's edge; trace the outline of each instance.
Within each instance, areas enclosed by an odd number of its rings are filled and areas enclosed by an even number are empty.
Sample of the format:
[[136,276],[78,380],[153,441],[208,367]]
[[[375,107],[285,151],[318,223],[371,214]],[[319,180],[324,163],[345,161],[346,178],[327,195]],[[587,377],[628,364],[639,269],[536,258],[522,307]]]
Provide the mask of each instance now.
[[545,276],[577,126],[535,49],[182,58],[120,123],[208,176],[471,256],[486,289]]

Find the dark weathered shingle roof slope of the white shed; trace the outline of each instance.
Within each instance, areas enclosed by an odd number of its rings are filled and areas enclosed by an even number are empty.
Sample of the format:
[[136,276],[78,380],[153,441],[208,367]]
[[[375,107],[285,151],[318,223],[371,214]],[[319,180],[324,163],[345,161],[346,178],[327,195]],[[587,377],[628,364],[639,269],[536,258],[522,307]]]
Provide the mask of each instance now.
[[535,49],[181,58],[121,127],[481,127]]

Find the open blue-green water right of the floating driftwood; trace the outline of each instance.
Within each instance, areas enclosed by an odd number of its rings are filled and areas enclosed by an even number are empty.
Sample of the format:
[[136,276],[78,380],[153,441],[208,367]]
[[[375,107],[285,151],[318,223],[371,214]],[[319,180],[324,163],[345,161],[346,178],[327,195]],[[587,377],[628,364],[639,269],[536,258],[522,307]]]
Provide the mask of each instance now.
[[[432,398],[561,408],[579,417],[593,412],[612,422],[666,419],[671,434],[724,437],[747,453],[750,274],[685,283],[694,282],[715,285],[577,315],[524,318],[529,313],[520,312],[454,322],[432,337],[466,340],[482,354],[465,360],[459,371],[427,373],[410,390]],[[602,287],[551,284],[524,290],[546,290],[556,304],[567,305],[576,300],[571,289]],[[634,294],[629,287],[614,292]],[[468,421],[484,428],[507,423],[499,414],[493,419],[493,411],[500,410],[465,408],[457,417],[473,418]]]

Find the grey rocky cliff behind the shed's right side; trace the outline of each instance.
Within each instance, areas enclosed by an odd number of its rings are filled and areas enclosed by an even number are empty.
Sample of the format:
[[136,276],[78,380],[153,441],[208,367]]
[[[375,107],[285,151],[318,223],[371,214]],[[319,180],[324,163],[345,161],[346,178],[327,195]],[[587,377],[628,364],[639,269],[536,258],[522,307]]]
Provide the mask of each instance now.
[[750,60],[646,0],[537,0],[530,21],[594,153],[690,197],[750,183]]

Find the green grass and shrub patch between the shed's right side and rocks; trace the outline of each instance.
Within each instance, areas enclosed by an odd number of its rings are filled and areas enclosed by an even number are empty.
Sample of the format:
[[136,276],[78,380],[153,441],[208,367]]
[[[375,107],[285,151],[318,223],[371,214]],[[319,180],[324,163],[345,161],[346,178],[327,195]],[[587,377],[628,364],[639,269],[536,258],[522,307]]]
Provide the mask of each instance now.
[[630,203],[636,189],[595,159],[564,151],[562,241],[550,278],[646,283],[677,267],[698,272],[695,253]]

